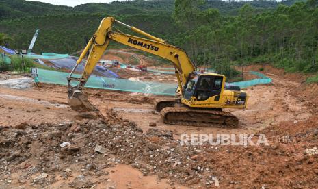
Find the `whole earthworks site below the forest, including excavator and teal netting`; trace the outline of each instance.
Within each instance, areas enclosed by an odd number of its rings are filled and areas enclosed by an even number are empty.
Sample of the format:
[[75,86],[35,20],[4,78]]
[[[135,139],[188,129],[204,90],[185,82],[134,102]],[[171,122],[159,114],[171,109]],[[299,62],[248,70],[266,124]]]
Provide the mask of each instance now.
[[36,65],[0,72],[0,188],[317,188],[312,74],[250,64],[232,81],[112,17],[76,55],[33,53],[38,32],[0,48]]

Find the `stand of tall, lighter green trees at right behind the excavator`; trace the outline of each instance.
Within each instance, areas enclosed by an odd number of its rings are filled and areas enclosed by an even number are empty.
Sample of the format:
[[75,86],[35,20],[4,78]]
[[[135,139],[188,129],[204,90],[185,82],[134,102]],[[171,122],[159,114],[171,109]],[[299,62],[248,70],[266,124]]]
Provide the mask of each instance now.
[[204,3],[176,0],[174,11],[176,23],[185,31],[178,43],[197,64],[222,68],[229,62],[272,63],[286,71],[318,71],[317,0],[261,13],[246,3],[238,16],[201,10]]

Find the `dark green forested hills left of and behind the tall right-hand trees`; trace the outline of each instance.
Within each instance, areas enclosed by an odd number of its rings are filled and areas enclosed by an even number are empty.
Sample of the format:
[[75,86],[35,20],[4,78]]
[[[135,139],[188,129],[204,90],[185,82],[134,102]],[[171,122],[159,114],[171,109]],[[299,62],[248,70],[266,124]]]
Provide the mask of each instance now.
[[[202,1],[202,0],[201,0]],[[293,4],[296,0],[283,1]],[[40,29],[40,36],[34,52],[54,51],[72,53],[83,48],[83,38],[91,36],[101,18],[116,16],[140,29],[176,42],[184,29],[172,18],[174,0],[114,1],[112,3],[87,3],[75,8],[51,5],[36,1],[0,1],[0,32],[9,34],[14,41],[14,49],[27,47],[34,31]],[[205,1],[200,10],[216,8],[220,14],[239,14],[239,9],[247,2]],[[280,3],[274,1],[249,1],[257,12],[274,9]]]

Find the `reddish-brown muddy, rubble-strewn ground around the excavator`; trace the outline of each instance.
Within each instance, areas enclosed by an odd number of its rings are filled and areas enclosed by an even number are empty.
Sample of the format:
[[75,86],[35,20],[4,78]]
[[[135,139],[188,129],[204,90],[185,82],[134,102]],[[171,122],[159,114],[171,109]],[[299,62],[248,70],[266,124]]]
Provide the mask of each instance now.
[[[273,83],[247,88],[246,110],[228,110],[235,129],[166,125],[153,101],[167,97],[86,89],[100,112],[78,113],[65,86],[0,85],[0,188],[316,188],[317,84],[261,67]],[[181,146],[181,134],[265,134],[269,145]]]

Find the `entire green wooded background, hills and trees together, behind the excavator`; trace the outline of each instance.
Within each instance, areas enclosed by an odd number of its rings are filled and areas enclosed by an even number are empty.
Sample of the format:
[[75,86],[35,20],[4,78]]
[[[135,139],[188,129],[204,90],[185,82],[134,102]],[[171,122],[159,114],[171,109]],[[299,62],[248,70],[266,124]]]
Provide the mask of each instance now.
[[69,8],[2,0],[0,33],[13,39],[10,48],[26,49],[40,29],[34,52],[73,53],[83,49],[83,38],[94,34],[101,18],[115,16],[225,75],[235,75],[231,66],[250,62],[317,72],[317,1],[135,0]]

